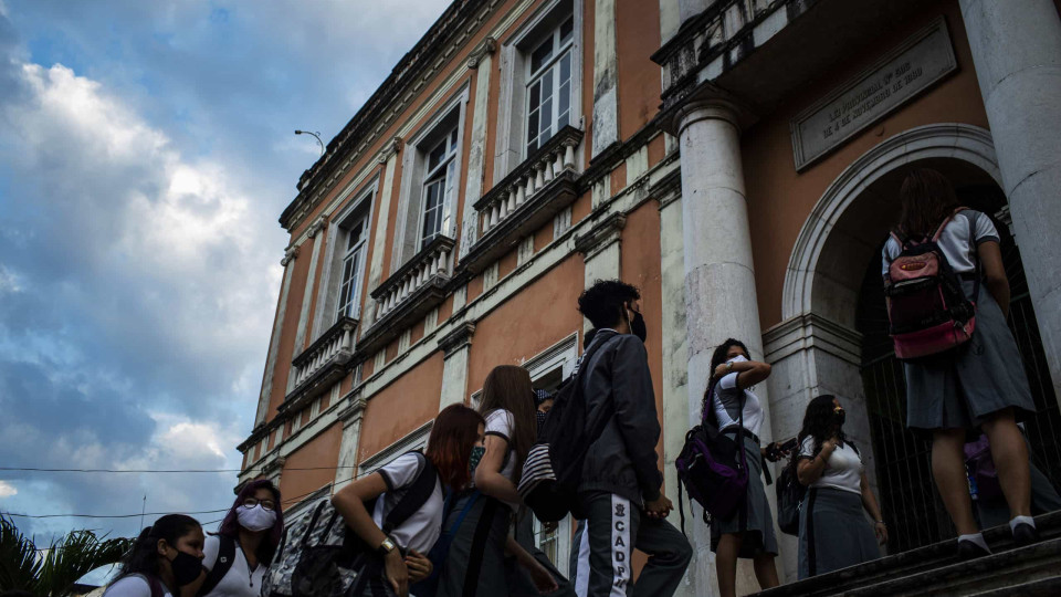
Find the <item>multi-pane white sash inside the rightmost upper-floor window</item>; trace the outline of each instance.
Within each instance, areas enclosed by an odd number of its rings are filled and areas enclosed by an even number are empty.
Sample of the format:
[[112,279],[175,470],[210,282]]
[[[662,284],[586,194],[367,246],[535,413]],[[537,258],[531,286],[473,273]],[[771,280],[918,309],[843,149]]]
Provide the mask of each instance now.
[[[571,22],[572,22],[572,31],[571,31],[571,38],[570,38],[568,41],[565,42],[565,41],[563,40],[563,38],[560,36],[560,31],[561,31],[561,29],[563,29],[563,25],[564,25],[565,23],[567,23],[567,21],[571,21]],[[534,63],[533,63],[532,60],[526,60],[526,61],[525,61],[525,62],[526,62],[526,73],[524,74],[524,77],[525,77],[526,83],[524,83],[524,87],[525,87],[525,88],[524,88],[524,96],[525,96],[525,98],[524,98],[524,106],[523,106],[523,114],[524,114],[524,116],[523,116],[523,126],[524,126],[524,132],[525,132],[525,133],[524,133],[524,139],[526,139],[526,140],[525,140],[525,143],[524,143],[524,145],[523,145],[523,151],[524,151],[524,153],[523,153],[523,157],[524,157],[524,159],[525,159],[529,154],[536,151],[539,147],[542,147],[542,145],[543,145],[544,143],[548,143],[548,139],[542,140],[539,135],[535,135],[535,147],[534,147],[534,148],[530,148],[530,147],[529,147],[530,135],[532,135],[532,130],[530,130],[530,112],[532,112],[532,109],[530,109],[530,96],[532,96],[532,94],[530,94],[530,87],[533,87],[535,84],[538,84],[538,85],[539,85],[539,90],[540,90],[540,84],[542,84],[542,82],[545,81],[546,78],[549,78],[549,80],[550,80],[550,81],[549,81],[549,86],[550,86],[550,90],[551,90],[551,92],[550,92],[551,95],[549,96],[549,100],[551,101],[551,108],[549,109],[549,114],[548,114],[548,118],[549,118],[549,130],[548,130],[548,132],[549,132],[549,138],[551,138],[554,135],[556,135],[556,132],[561,128],[561,127],[559,126],[559,117],[560,117],[560,101],[559,101],[559,100],[560,100],[560,87],[563,86],[563,83],[560,83],[560,61],[563,61],[564,57],[565,57],[565,56],[568,56],[568,55],[570,55],[570,65],[569,65],[569,67],[568,67],[569,73],[568,73],[568,81],[567,81],[567,83],[568,83],[568,90],[567,90],[567,93],[568,93],[567,125],[571,124],[571,109],[572,109],[572,107],[574,107],[572,104],[575,103],[575,102],[574,102],[575,97],[574,97],[574,93],[572,93],[572,91],[574,91],[574,90],[572,90],[572,80],[574,80],[574,77],[575,77],[575,33],[574,33],[574,21],[575,21],[575,15],[574,15],[574,14],[569,15],[567,19],[561,20],[561,21],[560,21],[559,23],[557,23],[556,27],[554,27],[547,34],[538,38],[538,40],[537,40],[534,44],[532,44],[532,45],[529,46],[529,51],[528,51],[528,53],[527,53],[528,56],[533,56],[534,51],[537,50],[538,48],[542,48],[542,46],[545,45],[546,43],[549,43],[549,44],[551,45],[550,49],[553,50],[553,54],[549,56],[549,59],[548,59],[547,61],[545,61],[545,64],[543,64],[542,66],[538,67],[537,71],[533,71],[533,70],[532,70],[533,66],[534,66]],[[543,129],[542,129],[542,121],[543,121],[543,117],[545,116],[544,105],[543,105],[543,103],[542,103],[542,101],[540,101],[540,94],[542,94],[542,92],[539,91],[539,92],[538,92],[539,101],[538,101],[538,106],[537,106],[537,108],[536,108],[536,109],[538,111],[538,132],[539,132],[539,133],[543,130]],[[565,125],[565,126],[567,126],[567,125]]]

